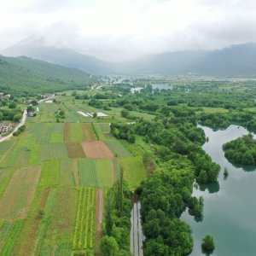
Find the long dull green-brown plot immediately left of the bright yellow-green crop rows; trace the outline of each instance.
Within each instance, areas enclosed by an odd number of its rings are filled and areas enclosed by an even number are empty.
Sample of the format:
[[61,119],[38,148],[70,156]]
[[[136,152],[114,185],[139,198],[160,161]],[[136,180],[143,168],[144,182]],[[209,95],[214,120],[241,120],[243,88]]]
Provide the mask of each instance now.
[[[61,253],[61,251],[66,251],[67,255],[72,254],[73,230],[79,199],[78,192],[77,189],[71,188],[58,189],[40,255],[43,255],[44,251],[49,249],[51,252],[59,251]],[[54,253],[46,255],[52,254]]]

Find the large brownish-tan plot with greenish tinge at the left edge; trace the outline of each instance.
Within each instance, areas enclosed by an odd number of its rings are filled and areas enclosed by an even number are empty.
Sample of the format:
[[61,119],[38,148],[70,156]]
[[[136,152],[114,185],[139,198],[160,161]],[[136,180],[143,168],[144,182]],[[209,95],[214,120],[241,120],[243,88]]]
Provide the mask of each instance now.
[[40,167],[28,167],[15,171],[0,200],[0,218],[26,218],[40,171]]

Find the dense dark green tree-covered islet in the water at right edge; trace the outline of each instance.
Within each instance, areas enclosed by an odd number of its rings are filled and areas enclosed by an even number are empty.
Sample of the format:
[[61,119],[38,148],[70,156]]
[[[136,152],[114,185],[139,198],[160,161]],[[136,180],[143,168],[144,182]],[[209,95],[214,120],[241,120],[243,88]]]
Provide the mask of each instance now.
[[242,165],[256,165],[256,140],[253,134],[249,133],[234,141],[223,145],[225,157],[231,163]]

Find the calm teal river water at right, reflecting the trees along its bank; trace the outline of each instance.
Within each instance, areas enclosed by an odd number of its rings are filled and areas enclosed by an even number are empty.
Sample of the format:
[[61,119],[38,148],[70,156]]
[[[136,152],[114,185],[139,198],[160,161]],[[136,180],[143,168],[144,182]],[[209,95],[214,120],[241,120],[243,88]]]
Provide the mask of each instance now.
[[[194,195],[204,197],[204,218],[196,223],[194,218],[184,212],[182,218],[193,230],[194,249],[191,256],[201,253],[201,240],[210,234],[217,256],[254,256],[256,255],[256,172],[253,167],[233,166],[224,157],[222,145],[246,135],[248,131],[241,126],[230,125],[225,131],[212,131],[202,127],[209,137],[203,149],[218,163],[218,185],[209,189],[194,189]],[[229,176],[224,179],[224,167]],[[205,190],[205,191],[201,191]],[[209,190],[211,193],[209,193]]]

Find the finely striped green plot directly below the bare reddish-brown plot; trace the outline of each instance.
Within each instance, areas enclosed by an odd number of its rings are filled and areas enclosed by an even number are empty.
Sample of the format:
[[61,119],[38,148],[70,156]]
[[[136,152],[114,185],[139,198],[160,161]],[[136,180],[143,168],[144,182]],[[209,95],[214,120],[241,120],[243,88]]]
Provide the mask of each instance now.
[[98,187],[99,178],[96,172],[96,163],[92,159],[79,159],[80,183],[85,187]]

